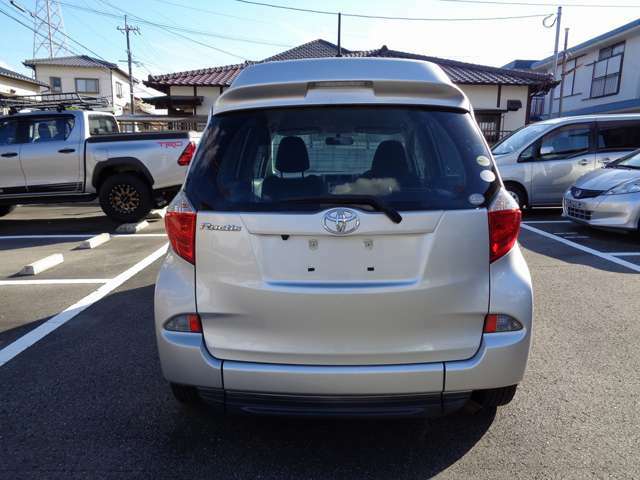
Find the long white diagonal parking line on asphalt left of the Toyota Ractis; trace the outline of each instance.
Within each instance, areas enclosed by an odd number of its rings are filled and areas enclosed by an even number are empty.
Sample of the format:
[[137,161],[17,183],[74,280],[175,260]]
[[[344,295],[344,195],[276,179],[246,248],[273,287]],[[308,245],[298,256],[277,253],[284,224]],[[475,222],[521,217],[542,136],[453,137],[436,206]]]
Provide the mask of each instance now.
[[125,270],[120,275],[118,275],[115,278],[112,278],[97,290],[94,290],[93,292],[91,292],[82,300],[67,307],[65,310],[55,315],[54,317],[51,317],[49,320],[44,322],[39,327],[34,328],[26,335],[23,335],[13,343],[10,343],[6,347],[4,347],[2,350],[0,350],[0,367],[5,363],[7,363],[8,361],[10,361],[15,356],[24,352],[27,348],[29,348],[31,345],[33,345],[37,341],[49,335],[58,327],[67,323],[73,317],[83,312],[84,310],[89,308],[91,305],[93,305],[97,301],[106,297],[109,293],[111,293],[113,290],[118,288],[124,282],[129,280],[135,274],[147,268],[157,259],[162,257],[165,253],[167,253],[168,246],[169,244],[163,245],[161,248],[153,252],[151,255],[149,255],[148,257],[136,263],[133,267],[129,268],[128,270]]

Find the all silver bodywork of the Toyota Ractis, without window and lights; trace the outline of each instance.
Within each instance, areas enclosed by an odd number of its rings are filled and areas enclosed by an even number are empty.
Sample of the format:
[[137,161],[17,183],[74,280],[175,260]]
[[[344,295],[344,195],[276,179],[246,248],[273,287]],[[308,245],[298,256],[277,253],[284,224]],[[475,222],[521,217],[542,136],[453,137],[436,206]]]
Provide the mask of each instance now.
[[[370,85],[317,85],[349,81]],[[245,69],[215,113],[303,104],[470,111],[436,66],[322,59]],[[489,262],[485,207],[402,211],[397,224],[352,208],[360,224],[348,235],[325,229],[328,210],[197,212],[196,265],[169,253],[156,281],[156,337],[169,381],[366,396],[468,392],[522,379],[531,279],[517,245]],[[194,312],[203,334],[163,328]],[[487,313],[511,315],[523,329],[484,334]]]

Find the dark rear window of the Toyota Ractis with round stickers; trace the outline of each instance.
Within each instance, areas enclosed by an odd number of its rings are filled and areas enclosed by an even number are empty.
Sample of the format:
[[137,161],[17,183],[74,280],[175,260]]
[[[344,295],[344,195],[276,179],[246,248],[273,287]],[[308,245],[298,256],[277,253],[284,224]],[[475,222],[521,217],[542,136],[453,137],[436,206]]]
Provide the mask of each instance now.
[[468,113],[314,107],[214,117],[185,190],[196,208],[222,211],[317,210],[354,195],[431,210],[477,207],[496,186]]

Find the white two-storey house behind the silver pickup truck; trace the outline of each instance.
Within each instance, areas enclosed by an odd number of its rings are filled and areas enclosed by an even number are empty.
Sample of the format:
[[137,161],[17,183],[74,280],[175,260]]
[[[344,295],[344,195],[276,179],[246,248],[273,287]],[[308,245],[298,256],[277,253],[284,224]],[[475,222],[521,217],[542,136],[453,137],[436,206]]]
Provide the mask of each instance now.
[[[33,68],[36,79],[49,86],[47,93],[77,92],[91,97],[106,97],[115,115],[128,113],[129,76],[115,63],[87,55],[36,58],[23,62]],[[134,80],[137,83],[137,80]]]

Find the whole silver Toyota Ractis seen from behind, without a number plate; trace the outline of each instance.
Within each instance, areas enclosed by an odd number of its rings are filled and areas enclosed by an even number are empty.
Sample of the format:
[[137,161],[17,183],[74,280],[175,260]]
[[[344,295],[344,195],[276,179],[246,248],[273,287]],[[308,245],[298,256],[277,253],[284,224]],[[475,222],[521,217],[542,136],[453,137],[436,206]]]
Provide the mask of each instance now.
[[246,68],[165,222],[156,333],[180,401],[439,415],[506,404],[523,378],[520,210],[433,64]]

